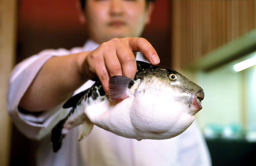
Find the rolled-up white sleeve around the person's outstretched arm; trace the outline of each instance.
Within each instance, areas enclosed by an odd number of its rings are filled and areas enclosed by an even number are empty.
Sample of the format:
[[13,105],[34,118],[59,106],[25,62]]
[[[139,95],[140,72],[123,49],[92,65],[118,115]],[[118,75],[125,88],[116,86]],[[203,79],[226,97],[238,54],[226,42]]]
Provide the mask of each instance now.
[[20,100],[41,67],[53,56],[62,56],[70,53],[68,50],[45,50],[22,61],[13,69],[7,94],[7,110],[13,123],[27,137],[41,139],[48,134],[51,128],[64,118],[68,109],[61,109],[61,105],[41,114],[31,114],[18,109]]

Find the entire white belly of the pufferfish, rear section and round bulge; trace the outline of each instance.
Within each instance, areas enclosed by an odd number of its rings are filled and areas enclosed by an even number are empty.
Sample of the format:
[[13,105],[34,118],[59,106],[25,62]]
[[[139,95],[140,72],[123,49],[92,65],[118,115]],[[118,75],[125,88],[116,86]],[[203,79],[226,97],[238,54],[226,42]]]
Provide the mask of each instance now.
[[85,112],[93,124],[126,138],[169,139],[186,130],[195,118],[186,104],[173,97],[141,92],[119,102],[90,105]]

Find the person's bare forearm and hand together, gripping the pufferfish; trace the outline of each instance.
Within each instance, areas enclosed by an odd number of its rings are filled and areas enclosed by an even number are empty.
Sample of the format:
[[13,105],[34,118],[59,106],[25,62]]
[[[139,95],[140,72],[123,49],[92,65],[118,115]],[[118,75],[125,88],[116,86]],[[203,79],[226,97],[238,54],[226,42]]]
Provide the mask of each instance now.
[[137,66],[134,52],[140,51],[153,65],[160,60],[144,38],[113,38],[91,52],[53,57],[41,68],[22,97],[20,106],[28,111],[43,111],[59,105],[88,79],[98,77],[108,94],[109,77],[134,78]]

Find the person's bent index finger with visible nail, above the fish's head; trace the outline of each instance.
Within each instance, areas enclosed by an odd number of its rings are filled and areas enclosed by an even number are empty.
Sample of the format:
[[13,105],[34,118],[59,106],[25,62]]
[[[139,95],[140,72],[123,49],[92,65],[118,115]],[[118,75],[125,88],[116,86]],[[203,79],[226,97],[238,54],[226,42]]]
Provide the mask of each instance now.
[[155,48],[144,38],[136,37],[130,38],[129,46],[133,52],[140,51],[142,55],[152,64],[157,65],[160,63],[160,58],[155,51]]

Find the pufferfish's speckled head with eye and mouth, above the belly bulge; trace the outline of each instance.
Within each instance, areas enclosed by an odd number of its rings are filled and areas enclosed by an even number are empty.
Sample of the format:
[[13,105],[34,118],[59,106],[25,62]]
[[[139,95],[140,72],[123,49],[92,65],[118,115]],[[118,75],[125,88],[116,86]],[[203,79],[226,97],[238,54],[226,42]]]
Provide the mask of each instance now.
[[144,82],[144,87],[140,85],[142,88],[155,91],[165,99],[173,99],[176,104],[186,105],[192,114],[202,109],[205,93],[200,86],[175,70],[145,65],[148,64],[138,65],[135,77],[135,80],[141,79]]

